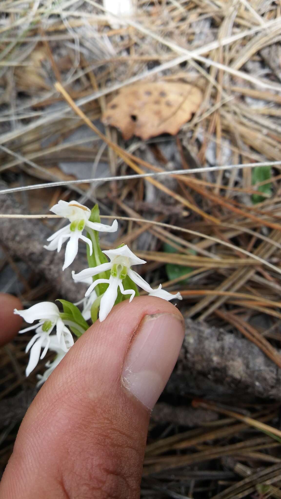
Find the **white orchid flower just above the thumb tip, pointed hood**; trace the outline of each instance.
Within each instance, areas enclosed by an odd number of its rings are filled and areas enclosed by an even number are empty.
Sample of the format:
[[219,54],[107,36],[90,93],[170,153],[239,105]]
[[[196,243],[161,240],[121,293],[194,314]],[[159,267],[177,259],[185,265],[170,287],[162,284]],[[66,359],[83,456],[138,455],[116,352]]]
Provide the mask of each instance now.
[[[99,283],[108,283],[108,287],[104,294],[100,299],[100,307],[99,307],[99,320],[102,322],[110,312],[113,307],[115,300],[117,298],[118,288],[122,294],[129,294],[131,301],[135,295],[135,291],[133,289],[124,289],[122,280],[128,275],[130,279],[137,284],[139,287],[147,291],[148,293],[154,293],[158,290],[153,290],[151,286],[146,282],[138,273],[132,270],[131,265],[138,265],[141,263],[146,263],[145,260],[141,260],[138,258],[127,245],[123,245],[116,250],[107,250],[102,251],[106,256],[108,256],[110,262],[102,263],[101,265],[97,265],[96,267],[85,268],[78,274],[72,272],[72,277],[74,280],[86,279],[88,277],[93,277],[94,275],[99,274],[100,272],[105,272],[106,270],[110,270],[109,279],[96,279],[87,289],[85,296],[88,296],[94,287]],[[162,290],[162,293],[166,293],[166,291]],[[170,293],[167,293],[170,294]],[[162,296],[161,296],[162,297]],[[172,297],[176,297],[172,295]],[[167,298],[165,298],[167,299]],[[169,298],[171,299],[171,298]]]

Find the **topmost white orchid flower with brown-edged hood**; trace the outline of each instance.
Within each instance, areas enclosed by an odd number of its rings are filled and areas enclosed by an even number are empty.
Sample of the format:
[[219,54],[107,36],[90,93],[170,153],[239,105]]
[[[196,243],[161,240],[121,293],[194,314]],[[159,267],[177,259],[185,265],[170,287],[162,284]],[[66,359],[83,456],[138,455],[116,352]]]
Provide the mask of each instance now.
[[77,201],[58,201],[57,205],[50,208],[50,211],[63,218],[67,218],[70,224],[66,225],[59,231],[56,231],[50,236],[47,241],[50,241],[48,246],[44,246],[46,250],[53,251],[61,250],[64,240],[69,238],[65,248],[65,257],[62,270],[67,268],[74,260],[78,252],[78,240],[84,241],[92,254],[92,242],[89,238],[82,236],[82,231],[86,227],[98,232],[115,232],[118,228],[117,220],[114,220],[112,225],[99,224],[97,222],[89,222],[90,210],[86,206],[80,205]]

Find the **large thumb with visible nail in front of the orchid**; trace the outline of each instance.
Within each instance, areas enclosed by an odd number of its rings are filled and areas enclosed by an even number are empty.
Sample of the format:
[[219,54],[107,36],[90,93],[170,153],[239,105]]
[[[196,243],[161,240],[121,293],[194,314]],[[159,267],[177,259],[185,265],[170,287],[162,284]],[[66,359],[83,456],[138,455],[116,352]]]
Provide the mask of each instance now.
[[0,497],[139,498],[149,413],[182,340],[182,316],[169,302],[143,296],[114,306],[35,397]]

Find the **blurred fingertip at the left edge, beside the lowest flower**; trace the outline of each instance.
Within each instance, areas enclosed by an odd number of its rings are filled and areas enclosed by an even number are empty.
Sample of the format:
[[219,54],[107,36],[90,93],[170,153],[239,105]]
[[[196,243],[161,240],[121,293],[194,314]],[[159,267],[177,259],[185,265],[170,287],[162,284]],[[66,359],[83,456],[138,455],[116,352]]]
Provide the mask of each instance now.
[[11,294],[0,293],[0,346],[8,343],[17,334],[22,318],[13,310],[22,310],[21,301]]

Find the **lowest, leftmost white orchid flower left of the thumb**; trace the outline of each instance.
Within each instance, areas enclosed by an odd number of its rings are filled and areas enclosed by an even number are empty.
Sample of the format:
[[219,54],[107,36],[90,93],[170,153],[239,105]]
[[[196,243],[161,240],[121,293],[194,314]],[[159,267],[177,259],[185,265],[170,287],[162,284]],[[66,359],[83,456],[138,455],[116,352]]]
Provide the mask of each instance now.
[[[39,358],[43,359],[47,353],[50,345],[50,333],[56,326],[56,338],[57,343],[61,350],[67,352],[70,346],[73,345],[73,337],[69,329],[64,325],[60,318],[59,310],[54,303],[50,301],[42,301],[41,303],[36,303],[27,310],[17,310],[13,311],[14,314],[20,315],[25,322],[30,324],[34,320],[39,320],[36,324],[32,326],[21,329],[20,333],[25,333],[26,331],[31,331],[35,329],[35,335],[27,343],[25,352],[30,350],[29,361],[26,367],[26,376],[29,376],[31,371],[38,364]],[[42,354],[40,355],[41,348],[43,348]]]

